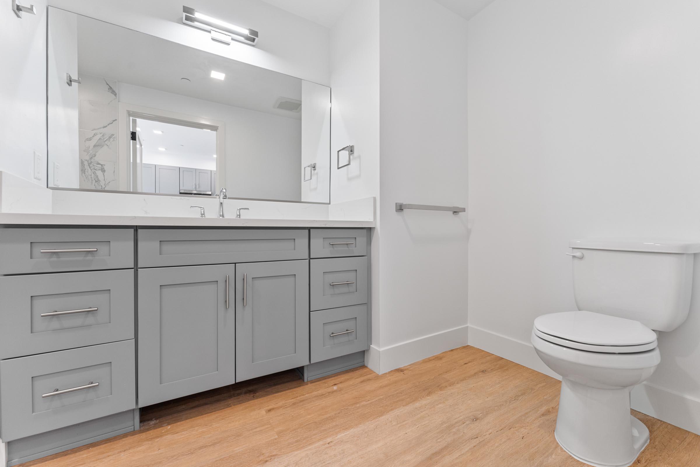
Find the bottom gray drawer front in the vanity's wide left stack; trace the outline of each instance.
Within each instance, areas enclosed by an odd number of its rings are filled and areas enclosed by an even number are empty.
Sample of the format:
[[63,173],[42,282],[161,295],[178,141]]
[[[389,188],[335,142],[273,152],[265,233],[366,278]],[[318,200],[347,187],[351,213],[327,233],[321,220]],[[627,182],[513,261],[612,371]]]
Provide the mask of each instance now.
[[[98,386],[42,397],[55,390]],[[134,341],[0,361],[3,441],[136,407]]]

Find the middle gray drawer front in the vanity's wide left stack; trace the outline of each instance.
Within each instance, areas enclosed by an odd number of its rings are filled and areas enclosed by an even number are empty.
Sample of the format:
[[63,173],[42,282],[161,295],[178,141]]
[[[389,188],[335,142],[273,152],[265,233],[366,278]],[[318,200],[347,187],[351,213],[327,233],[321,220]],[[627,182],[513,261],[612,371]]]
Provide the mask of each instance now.
[[134,338],[132,269],[0,277],[0,300],[0,359]]

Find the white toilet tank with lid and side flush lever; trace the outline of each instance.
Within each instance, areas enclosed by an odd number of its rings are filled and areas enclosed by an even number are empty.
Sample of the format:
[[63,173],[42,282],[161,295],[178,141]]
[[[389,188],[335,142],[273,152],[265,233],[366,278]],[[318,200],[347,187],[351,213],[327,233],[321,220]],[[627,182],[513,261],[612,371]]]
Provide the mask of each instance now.
[[653,330],[673,330],[685,321],[700,243],[589,239],[569,246],[578,309],[633,319]]

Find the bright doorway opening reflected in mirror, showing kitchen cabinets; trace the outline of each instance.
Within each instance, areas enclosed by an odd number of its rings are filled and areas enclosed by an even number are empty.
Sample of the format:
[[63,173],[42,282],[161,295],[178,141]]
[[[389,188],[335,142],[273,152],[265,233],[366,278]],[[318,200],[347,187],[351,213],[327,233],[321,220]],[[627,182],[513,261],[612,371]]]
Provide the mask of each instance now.
[[216,191],[218,128],[129,114],[130,189],[167,195]]

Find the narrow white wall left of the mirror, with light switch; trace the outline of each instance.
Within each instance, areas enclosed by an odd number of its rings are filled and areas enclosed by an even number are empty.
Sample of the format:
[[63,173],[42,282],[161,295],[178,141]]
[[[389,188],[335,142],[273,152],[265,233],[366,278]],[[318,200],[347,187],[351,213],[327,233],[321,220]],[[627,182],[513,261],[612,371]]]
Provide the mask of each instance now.
[[[0,8],[0,170],[39,185],[46,183],[46,2],[36,15],[17,18]],[[41,179],[34,179],[34,151],[41,155]]]

